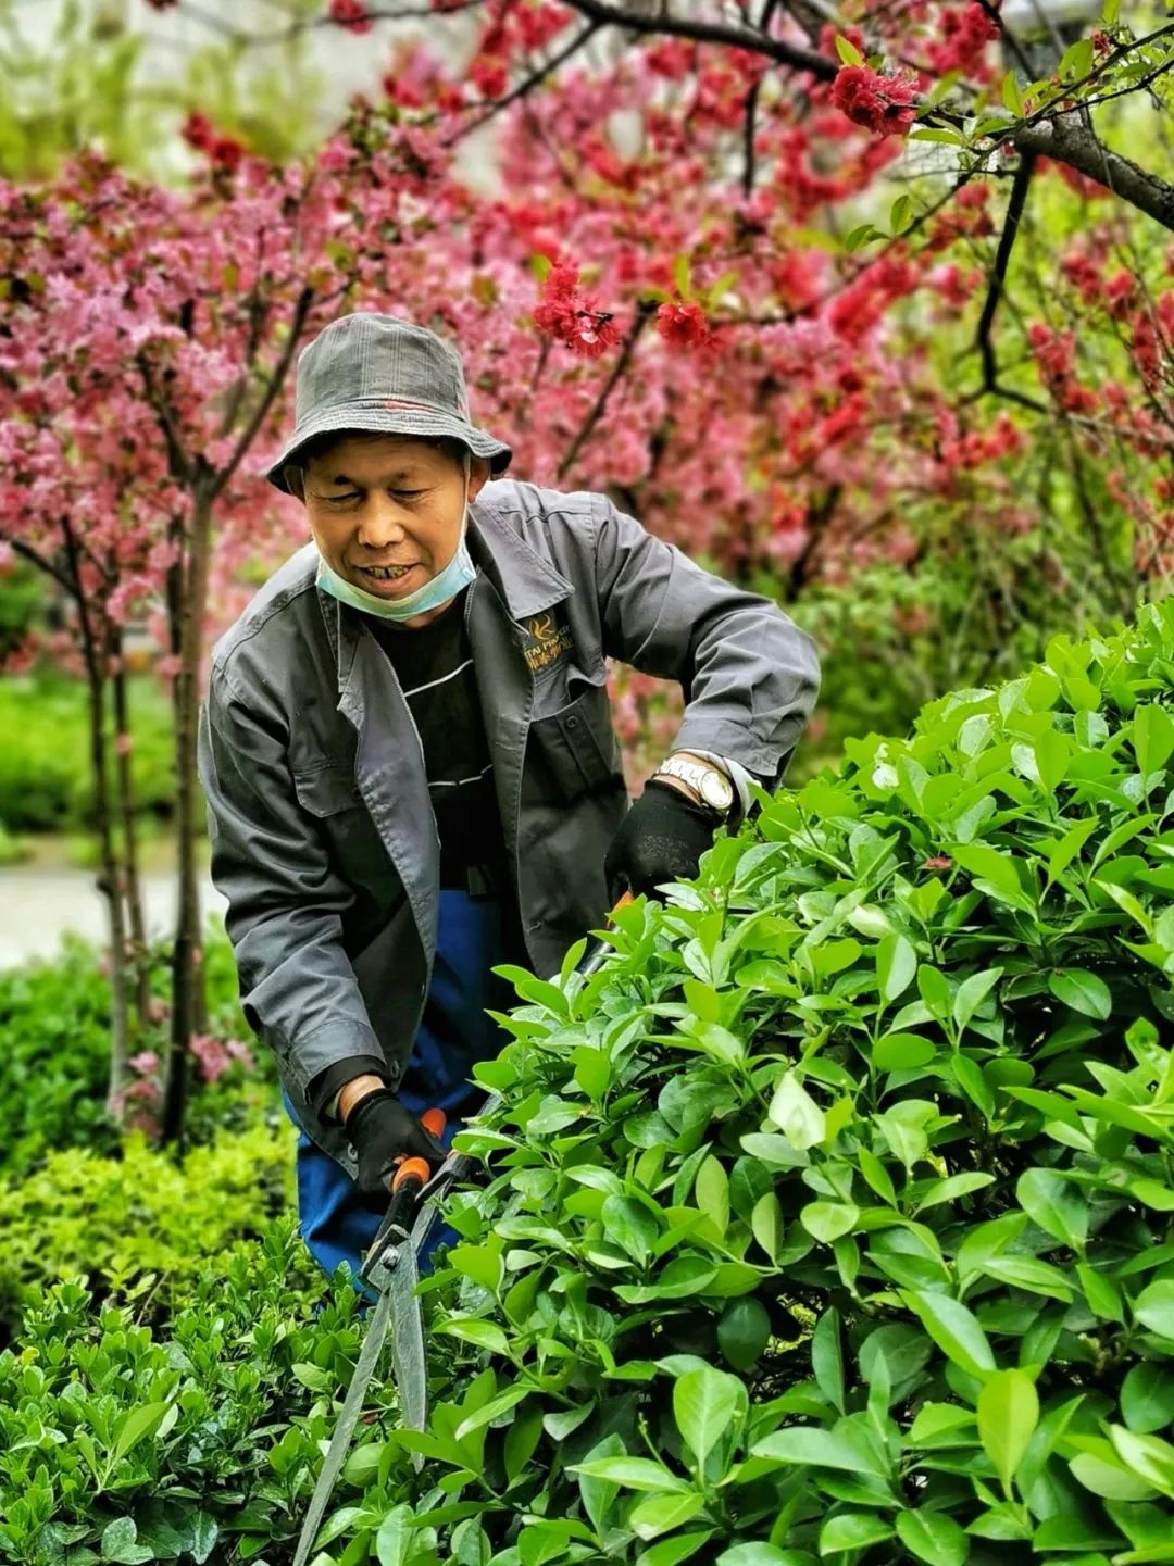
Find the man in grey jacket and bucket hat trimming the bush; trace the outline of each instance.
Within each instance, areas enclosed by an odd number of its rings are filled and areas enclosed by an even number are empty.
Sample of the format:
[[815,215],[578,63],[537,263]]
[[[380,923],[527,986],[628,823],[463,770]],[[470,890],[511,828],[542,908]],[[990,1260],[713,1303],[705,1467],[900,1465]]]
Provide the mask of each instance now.
[[[313,542],[218,644],[201,722],[212,874],[246,1016],[301,1128],[306,1240],[357,1272],[431,1106],[497,1054],[491,968],[558,968],[624,891],[696,874],[777,781],[817,691],[774,604],[602,495],[509,482],[456,352],[386,315],[298,360],[270,481]],[[672,755],[629,808],[607,659],[679,680]]]

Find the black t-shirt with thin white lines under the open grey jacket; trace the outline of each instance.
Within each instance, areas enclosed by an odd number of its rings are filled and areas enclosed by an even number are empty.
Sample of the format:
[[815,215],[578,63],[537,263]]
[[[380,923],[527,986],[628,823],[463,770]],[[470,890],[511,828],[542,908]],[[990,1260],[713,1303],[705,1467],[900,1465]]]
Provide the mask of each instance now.
[[[470,866],[503,877],[506,863],[464,609],[466,594],[459,594],[439,619],[419,630],[368,620],[420,734],[440,839],[442,886],[467,886]],[[503,882],[498,889],[505,889]]]

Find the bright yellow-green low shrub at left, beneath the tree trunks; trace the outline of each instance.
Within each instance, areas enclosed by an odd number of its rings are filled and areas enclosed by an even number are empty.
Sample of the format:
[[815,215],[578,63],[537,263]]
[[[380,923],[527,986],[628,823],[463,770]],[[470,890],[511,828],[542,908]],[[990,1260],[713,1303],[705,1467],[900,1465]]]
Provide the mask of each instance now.
[[121,1157],[67,1148],[0,1184],[0,1323],[69,1273],[100,1297],[149,1290],[155,1311],[182,1304],[208,1256],[293,1206],[293,1128],[274,1121],[179,1160],[136,1135]]

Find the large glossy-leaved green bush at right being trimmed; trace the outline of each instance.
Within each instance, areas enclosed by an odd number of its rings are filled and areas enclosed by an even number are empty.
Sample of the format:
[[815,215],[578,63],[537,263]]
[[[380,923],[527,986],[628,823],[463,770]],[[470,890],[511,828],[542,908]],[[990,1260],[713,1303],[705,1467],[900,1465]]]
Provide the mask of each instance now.
[[323,1561],[1174,1560],[1172,684],[1171,608],[1056,640],[514,976]]

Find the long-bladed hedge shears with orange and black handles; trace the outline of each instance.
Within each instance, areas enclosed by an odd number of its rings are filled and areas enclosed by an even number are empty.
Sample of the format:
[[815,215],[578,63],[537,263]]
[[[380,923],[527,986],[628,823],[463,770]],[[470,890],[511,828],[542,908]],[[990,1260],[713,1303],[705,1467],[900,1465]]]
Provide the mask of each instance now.
[[[629,893],[621,897],[613,913],[625,902]],[[589,976],[596,972],[607,957],[608,947],[597,941],[594,951],[588,951],[578,963],[577,972]],[[500,1104],[497,1095],[491,1095],[481,1106],[478,1115],[487,1115]],[[431,1131],[434,1137],[444,1134],[445,1117],[439,1109],[425,1110],[420,1124]],[[346,1461],[354,1427],[359,1423],[367,1387],[375,1375],[375,1367],[382,1351],[387,1328],[392,1331],[392,1361],[395,1369],[395,1386],[400,1395],[400,1417],[406,1430],[423,1430],[428,1423],[428,1355],[423,1342],[423,1314],[417,1287],[420,1284],[420,1251],[423,1250],[433,1226],[439,1220],[437,1200],[458,1181],[466,1179],[472,1160],[461,1153],[450,1153],[444,1164],[433,1173],[426,1159],[401,1159],[390,1179],[390,1203],[375,1240],[371,1242],[359,1278],[378,1294],[378,1303],[371,1314],[367,1336],[346,1398],[334,1427],[331,1445],[318,1474],[318,1481],[310,1496],[310,1505],[298,1535],[298,1549],[293,1555],[293,1566],[306,1566],[310,1549],[318,1536],[321,1519],[329,1505],[334,1486]],[[412,1463],[419,1469],[423,1458],[412,1453]]]

